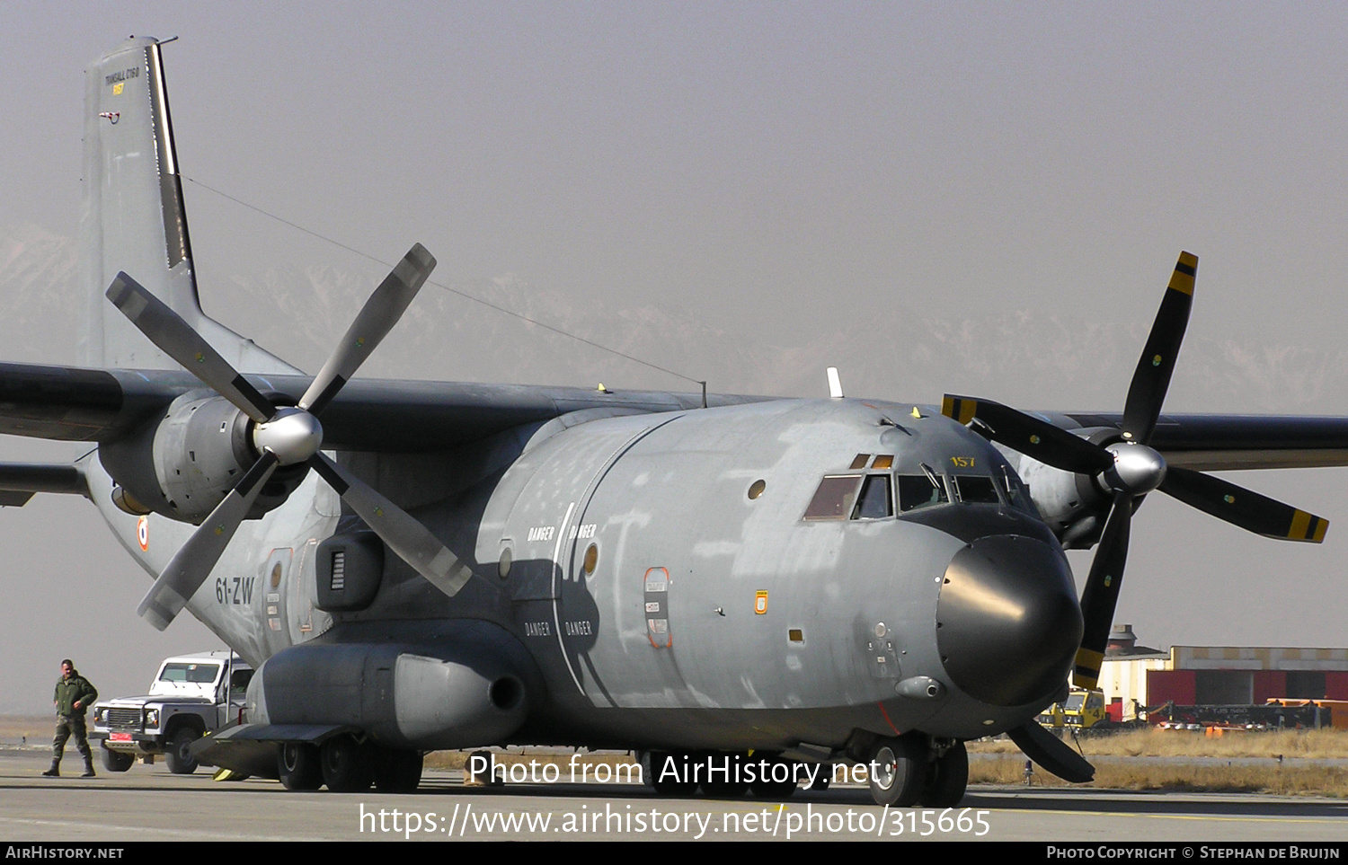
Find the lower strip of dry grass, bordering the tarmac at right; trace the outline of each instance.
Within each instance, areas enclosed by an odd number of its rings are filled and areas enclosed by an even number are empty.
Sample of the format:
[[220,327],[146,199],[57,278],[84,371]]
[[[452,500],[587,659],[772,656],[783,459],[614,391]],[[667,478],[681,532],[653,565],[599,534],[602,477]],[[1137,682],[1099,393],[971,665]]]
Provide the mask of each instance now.
[[[971,784],[1023,784],[1024,757],[973,760],[969,763]],[[1066,787],[1035,768],[1034,786]],[[1166,792],[1263,792],[1283,796],[1348,796],[1348,769],[1339,767],[1273,765],[1185,765],[1185,764],[1119,764],[1096,765],[1091,787],[1109,790],[1155,790]]]

